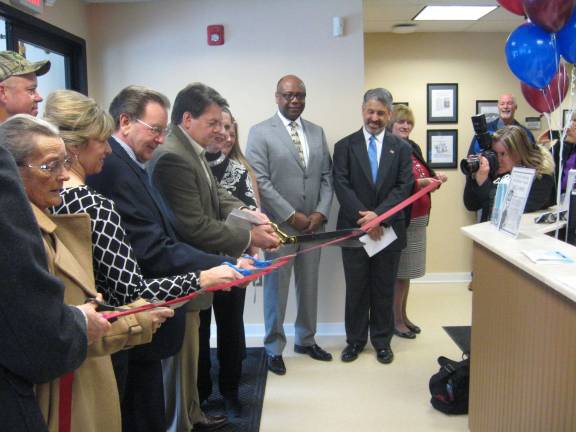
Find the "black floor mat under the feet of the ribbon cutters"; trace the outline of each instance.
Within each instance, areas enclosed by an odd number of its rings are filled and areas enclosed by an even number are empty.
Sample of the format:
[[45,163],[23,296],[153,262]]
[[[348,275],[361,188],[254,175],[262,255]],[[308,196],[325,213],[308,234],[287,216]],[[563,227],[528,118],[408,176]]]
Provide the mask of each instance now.
[[[210,350],[212,360],[213,390],[210,398],[202,404],[205,414],[225,414],[224,399],[218,391],[218,360],[216,350]],[[246,348],[246,359],[242,364],[239,398],[242,403],[242,417],[229,417],[230,424],[218,429],[218,432],[258,432],[262,416],[262,402],[266,389],[266,352],[264,348]]]

